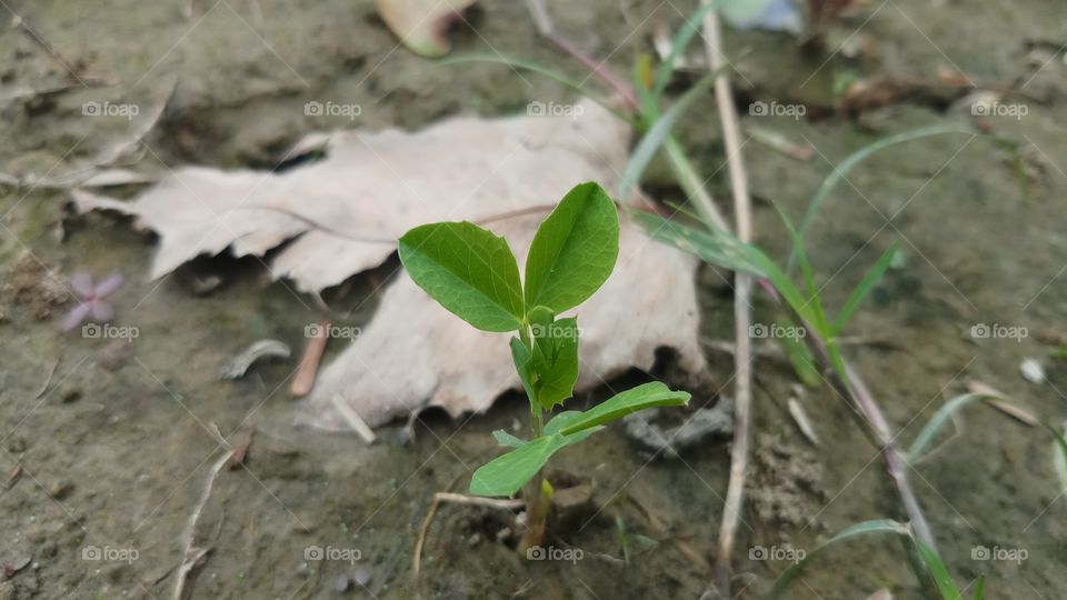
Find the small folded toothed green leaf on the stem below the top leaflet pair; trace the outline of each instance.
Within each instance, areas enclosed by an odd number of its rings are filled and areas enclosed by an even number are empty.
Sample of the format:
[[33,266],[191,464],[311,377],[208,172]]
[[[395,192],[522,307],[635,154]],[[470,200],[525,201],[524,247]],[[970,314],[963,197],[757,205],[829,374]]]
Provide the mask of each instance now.
[[578,320],[575,318],[530,323],[534,333],[534,390],[545,410],[575,393],[578,381]]

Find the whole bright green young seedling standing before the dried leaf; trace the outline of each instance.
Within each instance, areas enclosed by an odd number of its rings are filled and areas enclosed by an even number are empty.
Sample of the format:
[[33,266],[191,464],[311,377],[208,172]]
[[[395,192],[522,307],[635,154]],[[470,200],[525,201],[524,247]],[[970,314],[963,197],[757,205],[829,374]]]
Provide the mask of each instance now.
[[532,438],[496,431],[510,451],[475,472],[470,493],[512,496],[529,484],[520,551],[544,536],[552,488],[542,470],[554,453],[631,412],[689,401],[687,392],[651,382],[588,411],[564,411],[545,421],[546,412],[574,394],[578,379],[578,321],[559,316],[600,288],[619,253],[618,212],[600,186],[577,186],[541,222],[525,282],[508,242],[466,221],[417,227],[400,238],[399,251],[411,279],[447,310],[482,331],[517,334],[511,358],[530,401]]

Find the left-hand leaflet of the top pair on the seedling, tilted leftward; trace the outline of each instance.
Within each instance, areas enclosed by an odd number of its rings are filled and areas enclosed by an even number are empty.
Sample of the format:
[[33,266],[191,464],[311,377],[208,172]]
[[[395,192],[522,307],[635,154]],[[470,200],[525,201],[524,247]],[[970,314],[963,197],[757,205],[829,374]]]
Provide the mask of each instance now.
[[469,222],[430,223],[400,238],[400,262],[431,298],[483,331],[513,331],[525,316],[515,254]]

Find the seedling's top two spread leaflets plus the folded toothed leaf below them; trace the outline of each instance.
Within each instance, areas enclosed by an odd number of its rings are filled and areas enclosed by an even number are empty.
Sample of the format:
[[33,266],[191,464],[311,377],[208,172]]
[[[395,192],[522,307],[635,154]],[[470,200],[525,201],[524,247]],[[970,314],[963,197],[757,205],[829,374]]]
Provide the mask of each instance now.
[[538,227],[525,289],[507,240],[473,223],[417,227],[398,246],[411,279],[475,328],[505,332],[530,327],[531,348],[511,341],[527,393],[545,410],[570,398],[578,379],[578,324],[555,316],[592,296],[611,274],[619,252],[618,212],[600,186],[575,187]]

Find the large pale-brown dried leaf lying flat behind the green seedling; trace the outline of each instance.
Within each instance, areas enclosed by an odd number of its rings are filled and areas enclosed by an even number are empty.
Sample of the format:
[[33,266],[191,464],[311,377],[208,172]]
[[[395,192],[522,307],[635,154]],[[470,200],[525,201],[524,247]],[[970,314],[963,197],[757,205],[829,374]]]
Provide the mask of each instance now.
[[[579,107],[561,117],[455,118],[413,133],[340,132],[319,162],[282,173],[180,169],[132,203],[73,196],[81,210],[133,214],[160,234],[152,277],[201,253],[262,256],[296,238],[272,257],[272,273],[319,291],[378,267],[409,228],[463,219],[505,236],[525,261],[552,203],[581,181],[616,189],[626,164],[628,127],[598,104]],[[302,147],[323,140],[309,139]],[[521,216],[489,219],[507,213]],[[624,223],[615,273],[578,311],[579,389],[650,368],[660,347],[676,349],[686,370],[704,368],[695,269]],[[335,396],[370,427],[427,406],[458,416],[512,388],[508,337],[471,329],[399,272],[360,339],[320,371],[297,420],[350,430]]]

